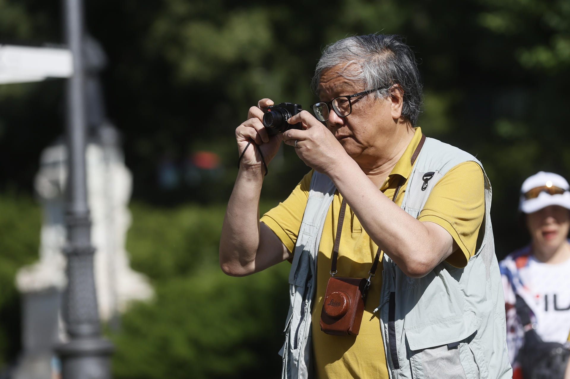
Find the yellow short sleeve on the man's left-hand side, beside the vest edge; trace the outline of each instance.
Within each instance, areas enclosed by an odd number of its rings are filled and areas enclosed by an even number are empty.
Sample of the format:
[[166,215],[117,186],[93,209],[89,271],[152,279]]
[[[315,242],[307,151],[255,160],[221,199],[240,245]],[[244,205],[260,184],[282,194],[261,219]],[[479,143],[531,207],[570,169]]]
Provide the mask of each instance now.
[[307,206],[312,176],[313,170],[303,177],[285,201],[280,202],[279,205],[269,210],[260,219],[275,233],[291,253],[295,248],[301,221]]

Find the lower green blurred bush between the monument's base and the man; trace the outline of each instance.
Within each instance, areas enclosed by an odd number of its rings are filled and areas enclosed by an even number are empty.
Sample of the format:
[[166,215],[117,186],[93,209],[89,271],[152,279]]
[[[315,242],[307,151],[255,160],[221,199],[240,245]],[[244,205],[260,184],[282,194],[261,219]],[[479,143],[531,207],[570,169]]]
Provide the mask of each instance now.
[[113,377],[278,377],[286,268],[230,278],[201,267],[157,281],[156,300],[133,307],[113,336]]

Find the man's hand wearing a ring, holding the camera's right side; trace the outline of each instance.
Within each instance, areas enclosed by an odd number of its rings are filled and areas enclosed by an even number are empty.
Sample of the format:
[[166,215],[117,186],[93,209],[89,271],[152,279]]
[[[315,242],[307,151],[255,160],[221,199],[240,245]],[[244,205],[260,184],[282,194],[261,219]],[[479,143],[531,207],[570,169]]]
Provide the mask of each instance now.
[[287,122],[302,123],[303,130],[290,129],[284,132],[283,142],[294,146],[295,152],[307,166],[327,174],[329,170],[340,164],[341,160],[349,158],[331,131],[311,113],[301,111]]

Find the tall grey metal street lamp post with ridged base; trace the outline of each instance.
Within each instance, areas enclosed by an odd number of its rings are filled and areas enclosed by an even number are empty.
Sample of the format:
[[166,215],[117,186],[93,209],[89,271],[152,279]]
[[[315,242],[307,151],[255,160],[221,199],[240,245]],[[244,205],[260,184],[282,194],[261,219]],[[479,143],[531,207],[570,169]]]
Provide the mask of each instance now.
[[110,379],[112,344],[101,338],[91,219],[87,202],[86,109],[83,69],[82,0],[64,0],[65,30],[73,56],[73,75],[67,80],[67,290],[63,318],[70,340],[56,349],[63,379]]

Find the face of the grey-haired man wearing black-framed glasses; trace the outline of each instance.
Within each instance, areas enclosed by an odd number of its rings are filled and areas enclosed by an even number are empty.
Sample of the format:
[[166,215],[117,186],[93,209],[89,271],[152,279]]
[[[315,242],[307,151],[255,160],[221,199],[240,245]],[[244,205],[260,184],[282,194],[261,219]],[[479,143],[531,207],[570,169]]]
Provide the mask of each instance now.
[[[350,70],[348,68],[347,70]],[[331,101],[335,97],[353,95],[370,88],[362,88],[339,75],[339,67],[326,70],[319,81],[321,101]],[[327,127],[339,140],[349,156],[357,160],[360,156],[377,156],[382,149],[396,144],[390,138],[394,135],[397,120],[391,112],[390,99],[376,99],[374,93],[351,99],[352,112],[339,117],[332,109],[329,112]]]

